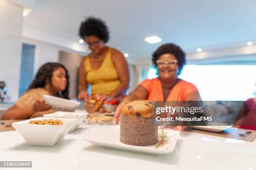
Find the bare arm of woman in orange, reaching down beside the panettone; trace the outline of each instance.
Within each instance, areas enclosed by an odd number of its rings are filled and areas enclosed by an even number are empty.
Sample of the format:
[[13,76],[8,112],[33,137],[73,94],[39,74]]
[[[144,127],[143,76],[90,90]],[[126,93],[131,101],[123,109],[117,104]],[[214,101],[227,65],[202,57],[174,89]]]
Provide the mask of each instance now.
[[123,98],[122,102],[115,108],[115,123],[118,125],[119,117],[120,117],[120,110],[121,108],[128,102],[138,99],[147,99],[148,98],[148,91],[145,87],[139,85],[133,92],[131,92],[128,96]]

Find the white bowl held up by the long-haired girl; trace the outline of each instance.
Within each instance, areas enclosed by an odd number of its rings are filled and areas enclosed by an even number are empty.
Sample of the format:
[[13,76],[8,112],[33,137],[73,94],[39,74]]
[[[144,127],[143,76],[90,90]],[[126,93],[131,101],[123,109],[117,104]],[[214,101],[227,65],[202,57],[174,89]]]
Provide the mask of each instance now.
[[74,112],[79,107],[80,102],[44,95],[44,101],[53,106],[54,110]]

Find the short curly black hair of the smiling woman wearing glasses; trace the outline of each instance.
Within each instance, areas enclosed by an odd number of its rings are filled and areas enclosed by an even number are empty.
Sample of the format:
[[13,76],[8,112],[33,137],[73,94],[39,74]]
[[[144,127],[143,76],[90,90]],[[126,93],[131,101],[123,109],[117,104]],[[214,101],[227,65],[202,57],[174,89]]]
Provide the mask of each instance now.
[[173,43],[163,44],[157,48],[157,50],[152,54],[152,62],[157,67],[156,60],[159,59],[160,55],[163,54],[173,54],[178,60],[179,73],[182,71],[183,66],[186,64],[186,54],[178,46]]

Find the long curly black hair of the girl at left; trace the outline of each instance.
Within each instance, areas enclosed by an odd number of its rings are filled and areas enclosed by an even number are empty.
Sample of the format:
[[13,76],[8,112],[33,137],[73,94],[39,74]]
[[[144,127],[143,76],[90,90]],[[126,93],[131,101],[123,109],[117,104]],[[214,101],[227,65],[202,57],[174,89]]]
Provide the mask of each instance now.
[[52,73],[59,67],[64,68],[64,70],[66,71],[67,79],[66,88],[64,91],[60,92],[59,95],[61,98],[69,99],[69,73],[64,65],[57,62],[47,62],[44,65],[42,65],[36,73],[35,79],[29,85],[28,90],[38,87],[44,88],[47,81],[49,81],[51,84]]

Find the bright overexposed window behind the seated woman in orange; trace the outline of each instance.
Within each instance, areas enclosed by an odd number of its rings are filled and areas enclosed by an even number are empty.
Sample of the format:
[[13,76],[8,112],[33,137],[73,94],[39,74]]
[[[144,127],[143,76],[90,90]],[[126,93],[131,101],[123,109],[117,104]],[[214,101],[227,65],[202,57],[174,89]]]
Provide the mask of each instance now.
[[[197,86],[202,100],[247,100],[254,97],[256,65],[186,65],[179,78]],[[151,67],[148,78],[156,77]]]

